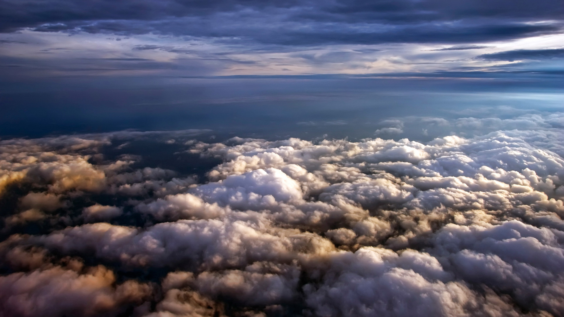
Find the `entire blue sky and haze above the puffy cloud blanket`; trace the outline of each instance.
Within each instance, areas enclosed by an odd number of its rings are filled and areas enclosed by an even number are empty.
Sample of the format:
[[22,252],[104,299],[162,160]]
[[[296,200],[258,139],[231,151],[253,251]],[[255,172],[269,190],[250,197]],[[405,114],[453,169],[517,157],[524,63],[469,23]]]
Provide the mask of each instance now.
[[231,112],[244,126],[281,116],[288,132],[316,121],[303,109],[350,121],[331,104],[358,118],[415,95],[437,112],[562,97],[559,0],[46,0],[0,12],[3,135],[234,129]]

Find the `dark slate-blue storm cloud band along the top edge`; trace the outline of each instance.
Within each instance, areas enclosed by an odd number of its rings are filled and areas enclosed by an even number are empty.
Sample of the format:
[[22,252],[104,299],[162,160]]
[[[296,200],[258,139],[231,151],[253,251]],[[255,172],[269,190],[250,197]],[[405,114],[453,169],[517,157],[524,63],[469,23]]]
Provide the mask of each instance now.
[[[518,1],[54,1],[0,2],[0,30],[161,33],[277,45],[494,41],[561,30],[556,0]],[[527,21],[550,23],[527,24]],[[276,36],[274,36],[276,34]]]

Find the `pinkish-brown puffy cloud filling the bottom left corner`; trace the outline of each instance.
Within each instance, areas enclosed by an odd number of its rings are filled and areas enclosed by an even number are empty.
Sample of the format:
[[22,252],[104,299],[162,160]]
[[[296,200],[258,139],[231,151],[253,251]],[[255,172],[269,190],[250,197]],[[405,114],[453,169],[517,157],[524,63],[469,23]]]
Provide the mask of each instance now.
[[151,289],[126,281],[113,286],[115,276],[103,266],[85,273],[53,267],[0,277],[0,303],[5,316],[114,315],[129,303],[140,304]]

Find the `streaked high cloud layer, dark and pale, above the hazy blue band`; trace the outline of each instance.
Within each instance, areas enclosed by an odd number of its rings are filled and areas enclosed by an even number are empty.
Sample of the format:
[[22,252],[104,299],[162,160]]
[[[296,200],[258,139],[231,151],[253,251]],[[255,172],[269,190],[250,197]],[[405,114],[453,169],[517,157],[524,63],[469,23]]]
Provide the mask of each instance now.
[[38,74],[453,74],[522,55],[546,71],[564,25],[558,0],[2,0],[0,12],[0,80],[43,84]]

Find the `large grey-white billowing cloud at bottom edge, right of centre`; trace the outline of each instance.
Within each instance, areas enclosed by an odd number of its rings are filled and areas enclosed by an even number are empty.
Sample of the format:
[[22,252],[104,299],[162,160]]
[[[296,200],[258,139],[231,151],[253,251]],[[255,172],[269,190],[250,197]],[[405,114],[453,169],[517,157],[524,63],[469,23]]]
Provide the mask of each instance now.
[[[319,316],[351,312],[360,316],[464,316],[474,313],[472,306],[498,314],[501,307],[509,306],[487,305],[466,285],[441,281],[450,276],[424,253],[406,251],[398,256],[385,249],[362,248],[335,257],[332,265],[338,269],[324,284],[305,287],[307,303]],[[517,314],[512,309],[503,313]]]

